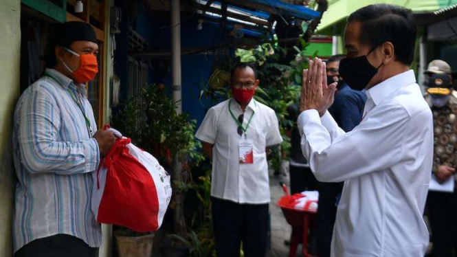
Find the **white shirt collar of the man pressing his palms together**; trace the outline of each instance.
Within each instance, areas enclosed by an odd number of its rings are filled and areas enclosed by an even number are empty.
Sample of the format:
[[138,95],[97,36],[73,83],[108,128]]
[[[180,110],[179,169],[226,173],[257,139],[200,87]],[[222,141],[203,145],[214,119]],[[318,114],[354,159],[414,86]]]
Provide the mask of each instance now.
[[414,71],[410,69],[409,71],[405,71],[402,74],[388,78],[378,85],[368,89],[366,91],[366,96],[372,99],[375,105],[377,105],[392,93],[394,93],[394,91],[397,91],[401,87],[411,85],[415,82],[416,76],[414,76]]

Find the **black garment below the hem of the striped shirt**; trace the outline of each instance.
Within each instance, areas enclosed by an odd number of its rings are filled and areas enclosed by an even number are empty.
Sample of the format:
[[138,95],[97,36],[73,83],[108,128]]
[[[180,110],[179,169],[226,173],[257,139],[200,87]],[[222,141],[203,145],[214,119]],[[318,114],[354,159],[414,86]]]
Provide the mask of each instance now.
[[89,247],[75,236],[57,234],[36,239],[19,249],[14,257],[98,257],[98,247]]

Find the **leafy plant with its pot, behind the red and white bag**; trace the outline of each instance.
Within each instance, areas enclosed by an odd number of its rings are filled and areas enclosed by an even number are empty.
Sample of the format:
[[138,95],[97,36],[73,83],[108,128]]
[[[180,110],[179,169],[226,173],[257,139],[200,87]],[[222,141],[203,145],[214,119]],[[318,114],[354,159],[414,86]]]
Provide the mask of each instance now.
[[[176,106],[177,102],[168,98],[166,91],[154,85],[144,87],[137,96],[124,102],[123,108],[112,116],[111,126],[131,137],[133,144],[154,155],[170,175],[173,175],[173,161],[179,160],[183,179],[172,177],[172,181],[186,182],[187,171],[203,156],[198,151],[201,144],[194,138],[196,122],[190,120],[186,113],[177,114]],[[175,208],[175,212],[177,206],[182,205],[181,199],[177,197],[179,194],[179,190],[174,188],[170,206]],[[185,227],[183,219],[179,225]],[[145,254],[149,252],[148,256],[151,256],[152,233],[139,234],[120,227],[115,232],[115,238],[119,252],[134,247],[144,249]],[[146,247],[146,241],[151,245]]]

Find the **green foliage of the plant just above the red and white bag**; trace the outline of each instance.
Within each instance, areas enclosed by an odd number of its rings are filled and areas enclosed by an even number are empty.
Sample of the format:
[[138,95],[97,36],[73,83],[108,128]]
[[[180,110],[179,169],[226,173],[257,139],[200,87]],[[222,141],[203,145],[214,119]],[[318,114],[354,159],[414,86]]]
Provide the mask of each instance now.
[[127,100],[111,124],[161,163],[170,164],[172,157],[179,156],[185,164],[198,164],[204,157],[194,137],[197,122],[188,113],[177,114],[176,107],[165,91],[148,87]]

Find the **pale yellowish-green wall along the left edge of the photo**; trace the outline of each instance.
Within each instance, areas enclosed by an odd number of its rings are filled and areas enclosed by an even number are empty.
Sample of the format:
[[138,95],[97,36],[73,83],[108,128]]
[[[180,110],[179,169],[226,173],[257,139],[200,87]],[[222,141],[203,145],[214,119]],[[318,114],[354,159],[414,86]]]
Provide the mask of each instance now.
[[0,1],[0,257],[12,256],[12,208],[15,175],[12,161],[12,114],[19,98],[21,1]]

